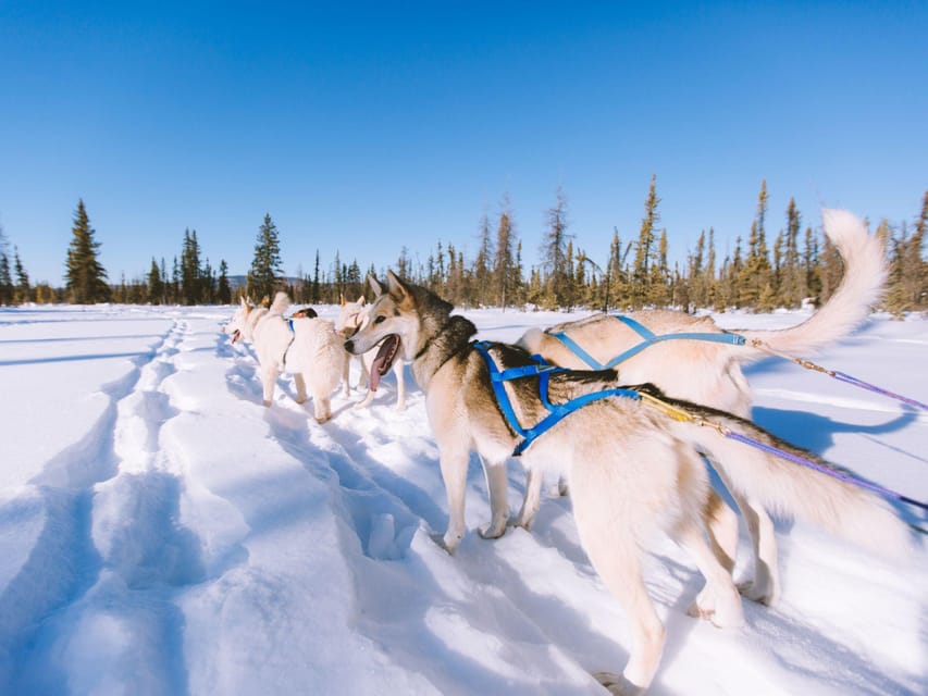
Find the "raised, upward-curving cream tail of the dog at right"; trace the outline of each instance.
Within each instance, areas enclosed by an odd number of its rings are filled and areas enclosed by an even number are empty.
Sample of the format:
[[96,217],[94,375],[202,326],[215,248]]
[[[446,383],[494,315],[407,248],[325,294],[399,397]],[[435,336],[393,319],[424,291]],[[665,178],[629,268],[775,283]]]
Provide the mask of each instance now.
[[[866,225],[845,210],[821,211],[825,234],[844,261],[841,284],[815,314],[797,326],[779,331],[739,331],[791,356],[808,356],[850,334],[879,300],[888,269],[882,240],[867,234]],[[763,357],[745,355],[748,360]]]

